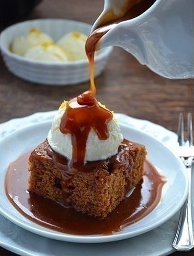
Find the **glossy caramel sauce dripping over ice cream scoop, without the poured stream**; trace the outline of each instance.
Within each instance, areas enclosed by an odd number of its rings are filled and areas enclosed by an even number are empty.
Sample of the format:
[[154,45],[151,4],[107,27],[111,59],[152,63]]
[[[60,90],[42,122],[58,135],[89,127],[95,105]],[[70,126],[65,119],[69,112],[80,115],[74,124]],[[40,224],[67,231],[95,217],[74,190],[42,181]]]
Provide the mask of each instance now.
[[107,123],[112,113],[102,108],[92,92],[87,91],[67,103],[61,119],[60,131],[70,133],[72,137],[72,161],[83,164],[86,152],[87,137],[94,129],[100,140],[107,140],[109,132]]

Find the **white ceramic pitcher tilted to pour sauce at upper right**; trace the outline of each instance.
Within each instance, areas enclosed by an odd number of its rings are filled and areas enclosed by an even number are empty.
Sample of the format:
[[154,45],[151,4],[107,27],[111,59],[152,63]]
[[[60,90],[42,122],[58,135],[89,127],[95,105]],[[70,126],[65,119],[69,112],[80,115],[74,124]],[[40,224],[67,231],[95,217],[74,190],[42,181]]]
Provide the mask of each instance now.
[[[125,2],[105,0],[92,31],[107,11],[119,13]],[[194,0],[156,0],[140,16],[113,25],[100,39],[98,49],[120,46],[163,77],[193,78],[193,6]]]

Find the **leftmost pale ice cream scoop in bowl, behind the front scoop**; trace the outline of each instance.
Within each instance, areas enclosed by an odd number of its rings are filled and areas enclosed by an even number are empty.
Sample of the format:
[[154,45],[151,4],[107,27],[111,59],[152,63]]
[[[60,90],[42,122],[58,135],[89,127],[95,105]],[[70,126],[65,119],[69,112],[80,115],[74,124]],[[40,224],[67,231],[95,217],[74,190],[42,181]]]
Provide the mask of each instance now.
[[42,31],[31,28],[26,36],[18,36],[14,39],[10,49],[20,56],[24,56],[28,49],[44,42],[53,42],[53,39]]

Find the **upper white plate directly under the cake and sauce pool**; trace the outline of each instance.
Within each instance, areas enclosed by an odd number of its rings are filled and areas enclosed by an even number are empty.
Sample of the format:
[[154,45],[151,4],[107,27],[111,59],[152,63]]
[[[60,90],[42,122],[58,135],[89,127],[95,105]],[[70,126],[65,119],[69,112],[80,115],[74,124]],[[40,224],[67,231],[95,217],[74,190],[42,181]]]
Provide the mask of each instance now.
[[4,178],[6,169],[10,162],[14,161],[17,157],[29,151],[45,139],[51,126],[51,120],[40,121],[37,124],[32,124],[32,122],[24,129],[19,129],[18,131],[3,138],[1,142],[1,159],[4,161],[1,161],[0,163],[1,214],[16,225],[33,233],[40,234],[41,236],[79,243],[97,243],[122,240],[137,236],[162,225],[162,223],[167,221],[176,213],[176,211],[178,211],[186,199],[188,180],[184,165],[178,157],[164,146],[163,143],[132,128],[129,124],[126,124],[126,122],[123,124],[122,121],[125,122],[125,120],[121,120],[120,122],[124,137],[146,145],[148,151],[147,158],[156,167],[161,169],[162,175],[165,175],[167,178],[167,183],[163,187],[162,200],[148,216],[139,222],[124,228],[121,232],[114,233],[109,236],[75,236],[44,228],[20,215],[19,212],[10,204],[5,195]]

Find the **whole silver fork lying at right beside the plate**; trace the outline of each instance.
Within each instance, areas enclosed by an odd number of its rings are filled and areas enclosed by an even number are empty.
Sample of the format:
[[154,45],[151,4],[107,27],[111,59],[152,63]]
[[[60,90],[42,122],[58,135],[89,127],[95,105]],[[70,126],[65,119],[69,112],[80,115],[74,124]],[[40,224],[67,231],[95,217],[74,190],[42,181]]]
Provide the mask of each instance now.
[[194,160],[194,146],[192,142],[192,118],[191,113],[187,116],[187,141],[184,141],[184,119],[183,114],[179,115],[178,124],[178,143],[179,143],[179,156],[185,164],[189,179],[189,193],[185,204],[180,209],[180,216],[178,227],[174,241],[173,248],[177,251],[189,251],[194,247],[194,238],[192,230],[192,217],[191,217],[191,165]]

